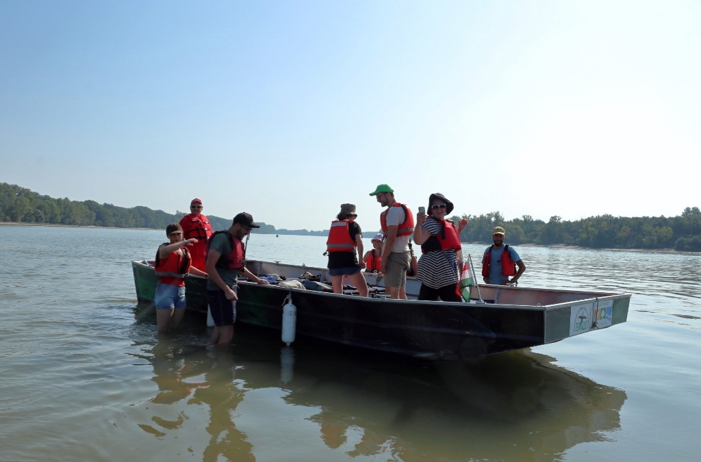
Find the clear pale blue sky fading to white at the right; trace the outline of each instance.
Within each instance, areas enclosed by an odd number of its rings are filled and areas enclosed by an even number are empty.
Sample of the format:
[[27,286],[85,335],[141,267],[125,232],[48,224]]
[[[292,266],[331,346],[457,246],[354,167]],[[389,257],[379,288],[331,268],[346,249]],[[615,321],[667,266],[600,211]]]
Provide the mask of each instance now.
[[4,1],[0,181],[325,229],[701,205],[701,2]]

